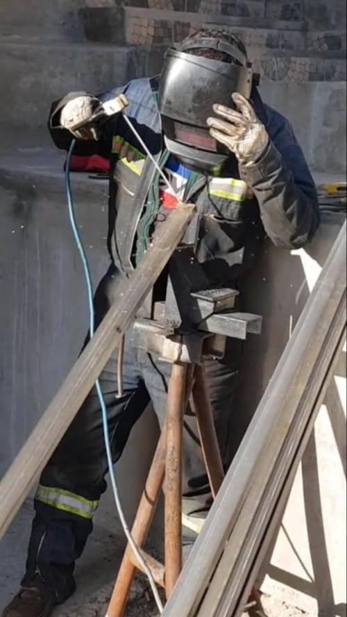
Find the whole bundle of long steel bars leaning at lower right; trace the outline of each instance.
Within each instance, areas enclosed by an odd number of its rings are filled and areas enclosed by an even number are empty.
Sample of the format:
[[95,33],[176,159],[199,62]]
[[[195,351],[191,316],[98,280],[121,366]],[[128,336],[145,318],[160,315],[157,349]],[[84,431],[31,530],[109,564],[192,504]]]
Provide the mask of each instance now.
[[[346,223],[187,559],[164,617],[238,617],[346,329]],[[272,518],[271,518],[272,517]]]

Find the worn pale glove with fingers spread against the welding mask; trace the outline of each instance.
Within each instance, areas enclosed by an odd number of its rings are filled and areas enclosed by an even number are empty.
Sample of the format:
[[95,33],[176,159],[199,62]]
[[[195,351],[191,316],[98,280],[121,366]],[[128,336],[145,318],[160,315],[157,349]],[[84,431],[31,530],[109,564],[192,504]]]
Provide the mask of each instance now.
[[234,92],[232,101],[237,110],[218,104],[213,106],[214,113],[225,120],[208,118],[210,134],[235,154],[241,165],[254,165],[264,154],[269,135],[242,94]]

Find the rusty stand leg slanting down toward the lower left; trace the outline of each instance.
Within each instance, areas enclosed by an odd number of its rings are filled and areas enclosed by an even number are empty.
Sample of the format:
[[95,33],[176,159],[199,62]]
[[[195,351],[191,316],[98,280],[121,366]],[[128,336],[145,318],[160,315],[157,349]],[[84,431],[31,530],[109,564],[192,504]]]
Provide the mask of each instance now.
[[[146,536],[149,532],[149,527],[155,512],[155,507],[162,488],[165,470],[165,454],[166,454],[166,425],[162,429],[162,434],[158,441],[157,449],[153,457],[151,469],[147,477],[146,486],[142,493],[137,514],[131,531],[132,536],[139,546],[142,547]],[[121,567],[117,576],[115,588],[113,589],[110,604],[108,605],[108,617],[122,617],[128,600],[131,583],[135,575],[135,566],[133,565],[133,554],[130,546],[126,548]]]

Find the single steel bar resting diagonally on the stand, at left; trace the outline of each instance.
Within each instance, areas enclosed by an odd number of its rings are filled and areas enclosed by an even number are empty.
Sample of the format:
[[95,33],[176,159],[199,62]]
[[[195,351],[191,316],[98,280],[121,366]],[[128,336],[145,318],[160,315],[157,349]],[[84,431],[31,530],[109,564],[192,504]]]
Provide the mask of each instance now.
[[53,450],[92,389],[146,295],[178,246],[194,206],[178,204],[139,266],[119,285],[117,303],[74,364],[37,426],[0,483],[0,538],[28,495]]

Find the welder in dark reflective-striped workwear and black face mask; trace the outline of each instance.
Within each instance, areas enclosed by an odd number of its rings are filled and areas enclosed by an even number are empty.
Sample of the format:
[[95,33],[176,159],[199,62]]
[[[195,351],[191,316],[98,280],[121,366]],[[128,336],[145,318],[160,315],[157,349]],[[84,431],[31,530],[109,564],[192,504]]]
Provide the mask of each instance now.
[[[73,130],[100,101],[121,93],[128,100],[125,113],[174,193],[123,115]],[[297,249],[310,242],[319,225],[316,189],[294,132],[262,102],[244,45],[222,29],[201,29],[168,49],[162,73],[153,79],[135,79],[98,96],[67,94],[53,104],[49,126],[59,148],[69,149],[76,138],[76,156],[110,161],[110,268],[94,297],[96,326],[117,302],[119,281],[133,272],[153,236],[160,234],[177,197],[196,204],[196,258],[211,288],[241,289],[246,265],[240,254],[248,256],[244,261],[252,267],[265,236],[278,247]],[[163,299],[162,287],[158,281],[153,299]],[[206,361],[226,468],[232,416],[239,413],[233,399],[241,353],[242,344],[228,339],[223,360]],[[155,354],[135,348],[131,330],[125,338],[122,393],[117,391],[117,358],[105,366],[100,383],[114,461],[150,401],[162,424],[170,368]],[[192,422],[189,418],[184,429],[183,511],[194,528],[212,497]],[[75,562],[92,532],[106,471],[99,400],[92,390],[42,472],[26,573],[3,617],[48,617],[74,593]]]

